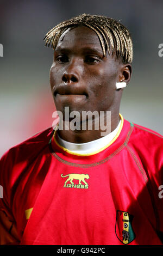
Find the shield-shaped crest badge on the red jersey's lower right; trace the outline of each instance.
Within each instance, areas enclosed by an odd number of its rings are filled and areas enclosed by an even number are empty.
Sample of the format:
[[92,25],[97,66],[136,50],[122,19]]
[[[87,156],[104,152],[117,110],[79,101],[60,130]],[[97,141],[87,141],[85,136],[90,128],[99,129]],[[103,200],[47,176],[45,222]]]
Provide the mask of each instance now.
[[130,215],[127,211],[117,211],[116,216],[116,236],[118,239],[127,245],[135,239],[135,234],[131,226],[133,216]]

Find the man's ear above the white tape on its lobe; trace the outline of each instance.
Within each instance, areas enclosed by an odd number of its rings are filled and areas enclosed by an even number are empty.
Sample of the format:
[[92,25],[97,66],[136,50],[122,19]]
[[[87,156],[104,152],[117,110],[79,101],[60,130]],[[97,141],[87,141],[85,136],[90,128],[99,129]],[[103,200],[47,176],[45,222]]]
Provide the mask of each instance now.
[[128,84],[131,79],[131,72],[132,68],[130,64],[121,64],[117,82],[125,82]]

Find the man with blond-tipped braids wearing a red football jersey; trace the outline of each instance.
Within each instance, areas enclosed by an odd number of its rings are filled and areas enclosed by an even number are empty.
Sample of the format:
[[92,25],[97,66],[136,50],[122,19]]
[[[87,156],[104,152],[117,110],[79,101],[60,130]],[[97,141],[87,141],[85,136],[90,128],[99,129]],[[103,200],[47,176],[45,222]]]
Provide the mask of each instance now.
[[[2,157],[1,244],[162,245],[162,137],[119,114],[133,59],[128,29],[83,14],[45,40],[54,49],[50,83],[63,126]],[[94,111],[104,123],[97,129],[93,118],[88,129],[83,113]]]

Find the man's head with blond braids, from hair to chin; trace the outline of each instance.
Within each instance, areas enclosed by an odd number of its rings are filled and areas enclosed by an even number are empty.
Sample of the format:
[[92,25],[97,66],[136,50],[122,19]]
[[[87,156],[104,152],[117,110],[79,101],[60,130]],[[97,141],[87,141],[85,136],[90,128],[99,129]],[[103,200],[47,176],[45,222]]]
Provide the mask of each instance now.
[[54,49],[50,83],[58,111],[119,112],[123,89],[116,82],[129,83],[133,59],[126,27],[83,14],[51,29],[45,41]]

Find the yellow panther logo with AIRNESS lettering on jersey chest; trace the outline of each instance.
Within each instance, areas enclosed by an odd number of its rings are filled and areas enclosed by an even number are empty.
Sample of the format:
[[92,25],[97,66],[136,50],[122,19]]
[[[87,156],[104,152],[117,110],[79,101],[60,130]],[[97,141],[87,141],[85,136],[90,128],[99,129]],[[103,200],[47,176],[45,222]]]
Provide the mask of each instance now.
[[[74,188],[88,188],[88,184],[85,181],[85,179],[89,179],[90,176],[88,174],[77,174],[77,173],[71,173],[67,175],[61,174],[62,178],[68,177],[68,179],[65,181],[64,187],[74,187]],[[73,180],[79,180],[79,184],[74,184]],[[67,184],[67,182],[70,181],[70,183]],[[82,182],[84,184],[82,184]]]

